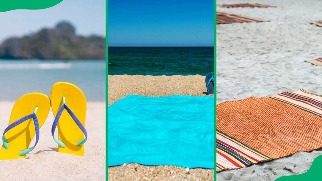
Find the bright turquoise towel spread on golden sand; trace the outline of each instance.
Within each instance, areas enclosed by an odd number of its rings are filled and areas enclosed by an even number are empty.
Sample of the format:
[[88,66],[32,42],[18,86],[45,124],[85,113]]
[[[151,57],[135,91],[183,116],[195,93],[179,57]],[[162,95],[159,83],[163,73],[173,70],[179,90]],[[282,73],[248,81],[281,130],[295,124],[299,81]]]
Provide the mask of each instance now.
[[214,168],[213,97],[128,95],[108,110],[108,166]]

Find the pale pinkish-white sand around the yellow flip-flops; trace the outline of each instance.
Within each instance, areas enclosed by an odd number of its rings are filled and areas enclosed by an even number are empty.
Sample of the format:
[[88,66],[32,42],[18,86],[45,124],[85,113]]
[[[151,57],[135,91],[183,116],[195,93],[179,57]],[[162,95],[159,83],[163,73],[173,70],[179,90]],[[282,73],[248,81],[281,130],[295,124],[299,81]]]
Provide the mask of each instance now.
[[[0,102],[1,134],[8,126],[13,105],[14,102]],[[84,157],[57,152],[50,111],[40,129],[39,142],[27,159],[0,160],[1,180],[105,180],[105,107],[105,102],[87,102]]]

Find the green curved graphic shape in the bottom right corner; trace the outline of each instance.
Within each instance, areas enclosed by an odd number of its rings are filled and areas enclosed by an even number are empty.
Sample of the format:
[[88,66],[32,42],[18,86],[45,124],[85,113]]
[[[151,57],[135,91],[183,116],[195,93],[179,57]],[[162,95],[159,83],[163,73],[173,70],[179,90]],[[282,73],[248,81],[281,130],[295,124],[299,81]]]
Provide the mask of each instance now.
[[321,165],[322,155],[314,159],[311,168],[307,172],[299,175],[282,176],[277,178],[275,181],[317,180],[321,174]]

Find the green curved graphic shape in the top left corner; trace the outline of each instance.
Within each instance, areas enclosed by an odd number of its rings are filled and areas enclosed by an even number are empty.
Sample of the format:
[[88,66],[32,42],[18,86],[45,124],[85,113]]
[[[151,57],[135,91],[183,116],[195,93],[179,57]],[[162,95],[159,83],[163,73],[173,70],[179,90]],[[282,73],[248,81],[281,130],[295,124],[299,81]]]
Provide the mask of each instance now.
[[0,1],[0,12],[15,9],[45,9],[59,4],[63,0],[3,0]]

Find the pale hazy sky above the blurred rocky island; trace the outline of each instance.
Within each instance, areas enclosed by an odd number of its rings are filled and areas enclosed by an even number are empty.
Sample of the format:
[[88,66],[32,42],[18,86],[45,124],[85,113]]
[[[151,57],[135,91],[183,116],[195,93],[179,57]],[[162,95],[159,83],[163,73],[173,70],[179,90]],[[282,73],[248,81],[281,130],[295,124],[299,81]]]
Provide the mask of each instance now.
[[42,10],[13,10],[0,13],[0,43],[10,36],[22,36],[68,20],[81,35],[105,36],[105,0],[64,0]]

